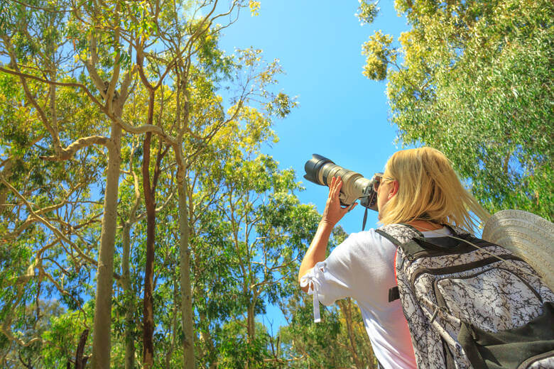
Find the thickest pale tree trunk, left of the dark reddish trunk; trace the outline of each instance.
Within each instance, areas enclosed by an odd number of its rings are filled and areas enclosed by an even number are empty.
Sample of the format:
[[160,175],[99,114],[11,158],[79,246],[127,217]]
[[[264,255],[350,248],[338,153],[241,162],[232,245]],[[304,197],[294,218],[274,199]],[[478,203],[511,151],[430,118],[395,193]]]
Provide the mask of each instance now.
[[121,127],[112,123],[112,138],[108,147],[104,216],[98,255],[97,288],[94,299],[94,331],[92,368],[109,369],[112,328],[112,278],[114,276],[114,246],[117,226],[117,192],[121,165]]

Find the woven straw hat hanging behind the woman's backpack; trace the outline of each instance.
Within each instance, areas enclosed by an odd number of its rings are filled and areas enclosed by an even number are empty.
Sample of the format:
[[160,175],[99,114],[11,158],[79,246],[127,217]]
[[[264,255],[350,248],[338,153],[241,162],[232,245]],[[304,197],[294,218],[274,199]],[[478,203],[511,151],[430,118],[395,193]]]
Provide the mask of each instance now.
[[521,210],[502,210],[484,225],[482,238],[526,260],[554,290],[554,224]]

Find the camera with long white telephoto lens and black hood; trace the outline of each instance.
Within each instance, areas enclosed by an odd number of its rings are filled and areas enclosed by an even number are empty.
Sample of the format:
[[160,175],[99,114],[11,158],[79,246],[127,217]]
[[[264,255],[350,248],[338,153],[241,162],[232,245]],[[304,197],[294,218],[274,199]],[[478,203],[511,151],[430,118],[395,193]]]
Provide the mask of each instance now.
[[[375,175],[371,180],[361,174],[336,165],[332,160],[322,155],[313,154],[304,165],[304,178],[315,184],[329,187],[332,177],[342,178],[342,188],[339,199],[347,206],[360,199],[360,204],[367,209],[377,211],[377,192],[374,191]],[[382,173],[376,173],[382,175]]]

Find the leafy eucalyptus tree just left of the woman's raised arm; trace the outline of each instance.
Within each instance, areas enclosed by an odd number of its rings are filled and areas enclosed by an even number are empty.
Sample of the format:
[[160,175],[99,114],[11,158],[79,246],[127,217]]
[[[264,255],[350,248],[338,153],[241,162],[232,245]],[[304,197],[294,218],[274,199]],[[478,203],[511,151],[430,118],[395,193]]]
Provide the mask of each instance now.
[[[245,155],[224,164],[225,185],[216,206],[227,224],[227,236],[219,245],[234,265],[227,270],[234,280],[229,292],[238,304],[232,307],[232,316],[243,322],[245,332],[232,341],[237,350],[256,352],[260,346],[256,316],[265,312],[266,304],[276,304],[295,290],[290,269],[313,236],[317,212],[299,204],[292,171],[278,170],[266,155]],[[255,368],[255,357],[246,365]]]

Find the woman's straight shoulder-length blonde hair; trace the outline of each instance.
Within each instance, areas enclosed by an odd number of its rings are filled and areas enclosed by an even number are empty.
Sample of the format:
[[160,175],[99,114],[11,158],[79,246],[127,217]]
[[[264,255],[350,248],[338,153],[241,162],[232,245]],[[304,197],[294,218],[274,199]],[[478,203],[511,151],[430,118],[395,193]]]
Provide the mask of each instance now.
[[462,186],[450,160],[434,148],[414,148],[394,153],[384,177],[398,181],[398,192],[381,213],[381,224],[415,220],[450,224],[473,232],[490,214]]

